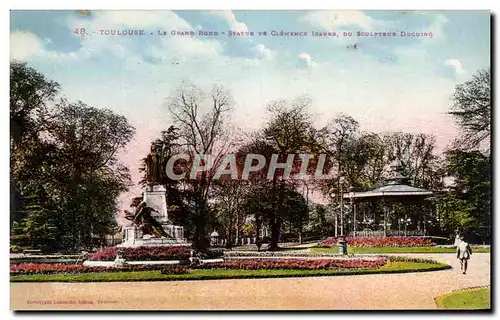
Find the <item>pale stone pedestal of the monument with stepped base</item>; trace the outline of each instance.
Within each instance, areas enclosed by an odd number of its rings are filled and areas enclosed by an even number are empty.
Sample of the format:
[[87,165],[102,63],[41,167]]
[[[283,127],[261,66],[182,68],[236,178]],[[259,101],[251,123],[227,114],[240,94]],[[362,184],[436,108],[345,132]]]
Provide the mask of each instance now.
[[146,187],[143,192],[143,201],[146,202],[148,207],[157,211],[152,211],[151,216],[161,224],[169,237],[148,237],[148,235],[143,235],[142,231],[136,226],[130,226],[125,228],[124,242],[119,244],[119,247],[191,245],[184,238],[184,227],[173,225],[168,219],[167,192],[163,186]]

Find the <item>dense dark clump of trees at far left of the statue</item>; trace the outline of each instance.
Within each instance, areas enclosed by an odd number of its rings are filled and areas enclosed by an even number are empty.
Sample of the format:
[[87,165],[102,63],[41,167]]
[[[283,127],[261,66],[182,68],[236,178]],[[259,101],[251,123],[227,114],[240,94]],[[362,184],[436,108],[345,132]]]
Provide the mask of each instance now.
[[117,153],[134,129],[107,109],[56,101],[59,85],[25,64],[12,65],[11,87],[12,243],[92,245],[116,226],[116,199],[130,184]]

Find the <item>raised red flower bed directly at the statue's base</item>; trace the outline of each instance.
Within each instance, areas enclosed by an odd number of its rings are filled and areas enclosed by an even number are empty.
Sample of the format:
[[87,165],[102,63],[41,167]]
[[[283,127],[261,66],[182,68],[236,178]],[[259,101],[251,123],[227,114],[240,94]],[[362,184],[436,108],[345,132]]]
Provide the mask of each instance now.
[[[118,252],[121,253],[122,258],[128,261],[187,260],[191,256],[191,248],[189,247],[111,247],[89,255],[89,260],[113,261],[115,260]],[[198,257],[201,259],[210,259],[220,257],[222,254],[222,251],[207,251],[198,253]]]

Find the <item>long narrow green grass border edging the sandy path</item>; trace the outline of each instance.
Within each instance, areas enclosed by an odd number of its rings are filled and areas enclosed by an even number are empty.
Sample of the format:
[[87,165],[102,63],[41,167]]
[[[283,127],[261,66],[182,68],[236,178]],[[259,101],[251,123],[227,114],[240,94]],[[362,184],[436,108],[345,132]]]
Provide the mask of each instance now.
[[101,272],[82,274],[17,275],[11,282],[110,282],[110,281],[175,281],[210,279],[245,279],[277,277],[342,276],[376,273],[424,272],[448,269],[442,263],[389,261],[386,266],[373,270],[188,270],[186,274],[163,275],[160,271]]

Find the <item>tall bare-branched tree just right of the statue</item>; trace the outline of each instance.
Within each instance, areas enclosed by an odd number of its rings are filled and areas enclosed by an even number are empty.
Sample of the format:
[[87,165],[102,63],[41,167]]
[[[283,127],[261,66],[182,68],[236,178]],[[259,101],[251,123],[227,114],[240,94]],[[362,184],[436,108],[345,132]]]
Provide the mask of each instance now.
[[[194,226],[194,246],[200,250],[207,246],[207,223],[211,220],[208,203],[214,174],[222,158],[232,146],[228,130],[228,113],[232,98],[223,87],[214,85],[205,92],[190,83],[183,83],[167,99],[167,107],[174,124],[179,128],[179,141],[185,151],[196,158],[208,155],[200,163],[211,161],[213,166],[197,174],[196,179],[186,180],[191,191]],[[189,171],[191,171],[190,168]]]

